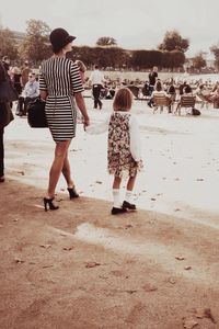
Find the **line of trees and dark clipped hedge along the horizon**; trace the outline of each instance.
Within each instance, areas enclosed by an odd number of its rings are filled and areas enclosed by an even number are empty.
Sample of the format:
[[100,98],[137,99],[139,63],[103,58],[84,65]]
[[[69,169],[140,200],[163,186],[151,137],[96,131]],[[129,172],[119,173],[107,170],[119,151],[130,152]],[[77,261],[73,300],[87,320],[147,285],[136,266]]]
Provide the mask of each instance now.
[[[24,39],[14,42],[13,32],[0,27],[0,56],[9,56],[12,60],[26,60],[39,64],[51,56],[49,45],[50,27],[42,21],[27,21]],[[90,67],[94,64],[108,69],[149,69],[153,66],[174,70],[183,68],[186,63],[185,53],[189,47],[189,39],[183,38],[177,31],[168,31],[158,49],[128,50],[119,47],[115,38],[102,36],[96,41],[94,47],[73,46],[68,54],[73,60],[80,59]],[[219,45],[214,45],[211,52],[219,68]],[[192,58],[194,68],[200,69],[206,66],[204,53],[198,53]]]

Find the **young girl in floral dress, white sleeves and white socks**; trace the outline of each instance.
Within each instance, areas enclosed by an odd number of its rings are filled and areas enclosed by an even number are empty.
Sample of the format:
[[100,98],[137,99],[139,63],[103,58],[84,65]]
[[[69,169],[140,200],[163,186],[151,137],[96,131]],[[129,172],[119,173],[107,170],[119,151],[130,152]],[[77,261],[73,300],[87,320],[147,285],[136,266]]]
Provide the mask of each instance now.
[[[89,134],[108,131],[108,172],[114,174],[112,215],[135,211],[132,189],[137,172],[142,168],[140,155],[140,133],[136,118],[130,114],[132,93],[128,88],[120,88],[114,98],[111,116],[97,126],[87,127]],[[124,172],[128,172],[126,195],[120,203],[119,189]]]

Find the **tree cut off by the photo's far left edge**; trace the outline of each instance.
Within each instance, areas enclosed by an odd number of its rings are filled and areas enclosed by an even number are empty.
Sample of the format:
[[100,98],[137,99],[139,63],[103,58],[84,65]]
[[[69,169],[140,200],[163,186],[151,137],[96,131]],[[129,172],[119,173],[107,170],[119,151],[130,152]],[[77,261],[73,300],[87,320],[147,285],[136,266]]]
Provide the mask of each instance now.
[[16,59],[18,49],[13,39],[13,32],[9,29],[0,27],[0,58],[8,56],[10,59]]

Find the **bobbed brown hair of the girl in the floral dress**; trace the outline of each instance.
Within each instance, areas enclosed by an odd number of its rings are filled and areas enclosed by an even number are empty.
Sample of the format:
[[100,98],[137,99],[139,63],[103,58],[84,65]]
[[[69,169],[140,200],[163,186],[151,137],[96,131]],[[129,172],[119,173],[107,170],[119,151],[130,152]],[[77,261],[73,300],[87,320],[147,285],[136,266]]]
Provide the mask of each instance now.
[[120,88],[115,94],[113,109],[114,111],[128,111],[132,105],[134,94],[128,88]]

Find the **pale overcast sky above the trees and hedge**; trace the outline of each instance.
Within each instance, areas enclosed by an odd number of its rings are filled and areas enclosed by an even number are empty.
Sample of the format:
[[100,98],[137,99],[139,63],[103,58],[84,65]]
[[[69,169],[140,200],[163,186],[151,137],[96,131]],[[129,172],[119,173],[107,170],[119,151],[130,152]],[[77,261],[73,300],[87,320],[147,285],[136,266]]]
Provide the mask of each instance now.
[[186,56],[219,44],[219,0],[1,0],[0,25],[25,32],[26,21],[41,20],[53,30],[76,35],[74,45],[94,46],[112,36],[126,49],[152,49],[166,31],[188,38]]

